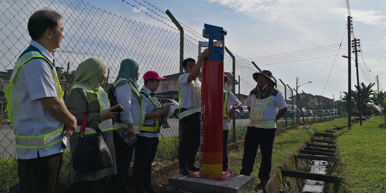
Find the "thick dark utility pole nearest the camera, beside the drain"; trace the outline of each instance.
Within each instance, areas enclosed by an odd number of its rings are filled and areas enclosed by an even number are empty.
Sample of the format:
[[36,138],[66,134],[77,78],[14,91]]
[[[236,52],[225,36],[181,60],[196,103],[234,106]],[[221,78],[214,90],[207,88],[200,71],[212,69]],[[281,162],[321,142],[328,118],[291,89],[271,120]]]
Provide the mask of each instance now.
[[[351,42],[351,32],[352,32],[352,17],[351,16],[347,16],[347,42]],[[348,127],[349,127],[349,130],[351,129],[351,45],[348,44],[348,57],[349,57],[349,64],[348,64],[348,80],[349,80],[349,83],[348,83],[348,99],[347,99],[347,106],[348,106],[348,113],[349,113],[349,119],[348,119]]]

